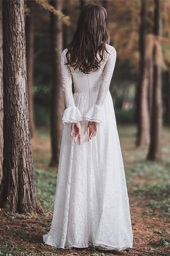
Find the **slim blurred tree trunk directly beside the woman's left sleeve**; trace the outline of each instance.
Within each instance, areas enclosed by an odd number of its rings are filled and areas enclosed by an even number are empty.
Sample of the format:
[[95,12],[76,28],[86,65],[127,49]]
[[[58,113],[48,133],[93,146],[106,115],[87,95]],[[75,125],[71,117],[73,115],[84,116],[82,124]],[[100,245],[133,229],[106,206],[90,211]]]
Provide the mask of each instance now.
[[[51,4],[57,10],[61,10],[61,0],[52,0]],[[64,95],[62,90],[61,76],[61,53],[63,50],[63,25],[61,19],[51,14],[51,38],[52,38],[52,65],[53,65],[53,85],[52,85],[52,112],[51,112],[51,146],[52,158],[50,166],[58,166],[61,149],[61,139],[63,134],[62,116],[64,111]]]

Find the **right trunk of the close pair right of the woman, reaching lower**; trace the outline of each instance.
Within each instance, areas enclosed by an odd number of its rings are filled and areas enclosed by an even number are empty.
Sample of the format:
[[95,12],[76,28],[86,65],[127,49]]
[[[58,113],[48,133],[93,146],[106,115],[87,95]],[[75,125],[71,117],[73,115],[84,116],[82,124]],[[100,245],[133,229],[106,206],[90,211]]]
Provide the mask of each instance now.
[[161,135],[162,135],[162,65],[160,63],[161,35],[162,35],[162,17],[161,5],[159,0],[155,0],[154,12],[154,35],[157,36],[157,44],[154,45],[154,81],[152,91],[152,122],[150,130],[150,147],[148,159],[159,161],[162,155],[161,152]]

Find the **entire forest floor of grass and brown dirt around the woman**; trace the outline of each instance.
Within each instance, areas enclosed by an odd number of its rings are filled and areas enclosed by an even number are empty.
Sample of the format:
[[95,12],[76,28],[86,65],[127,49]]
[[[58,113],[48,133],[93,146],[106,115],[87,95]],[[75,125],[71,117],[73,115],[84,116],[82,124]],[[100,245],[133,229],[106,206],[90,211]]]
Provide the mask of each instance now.
[[170,130],[163,131],[163,157],[160,163],[146,161],[148,148],[135,148],[135,127],[118,126],[133,229],[133,249],[99,251],[56,249],[43,243],[52,221],[57,172],[49,167],[49,132],[37,130],[32,139],[36,193],[43,214],[0,211],[0,255],[79,256],[79,255],[170,255]]

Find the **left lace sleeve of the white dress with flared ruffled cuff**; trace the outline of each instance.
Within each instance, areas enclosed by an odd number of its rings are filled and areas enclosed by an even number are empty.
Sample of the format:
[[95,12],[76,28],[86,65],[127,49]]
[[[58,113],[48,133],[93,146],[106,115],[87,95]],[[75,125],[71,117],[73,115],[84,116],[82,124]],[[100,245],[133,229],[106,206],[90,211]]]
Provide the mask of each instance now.
[[62,122],[64,125],[83,120],[80,110],[75,106],[72,93],[72,74],[70,68],[67,65],[64,65],[64,62],[66,61],[65,50],[66,49],[63,50],[61,55],[62,86],[66,105],[66,109],[64,110],[62,117]]

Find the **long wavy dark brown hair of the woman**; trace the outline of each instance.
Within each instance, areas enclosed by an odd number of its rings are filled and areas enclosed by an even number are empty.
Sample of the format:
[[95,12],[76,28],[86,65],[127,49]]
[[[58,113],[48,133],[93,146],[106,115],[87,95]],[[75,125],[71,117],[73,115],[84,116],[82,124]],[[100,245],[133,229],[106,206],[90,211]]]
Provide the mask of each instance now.
[[107,11],[103,6],[96,4],[84,6],[73,39],[67,44],[66,65],[71,65],[74,69],[79,68],[86,74],[98,70],[107,52],[106,43],[109,44],[110,40],[106,17]]

